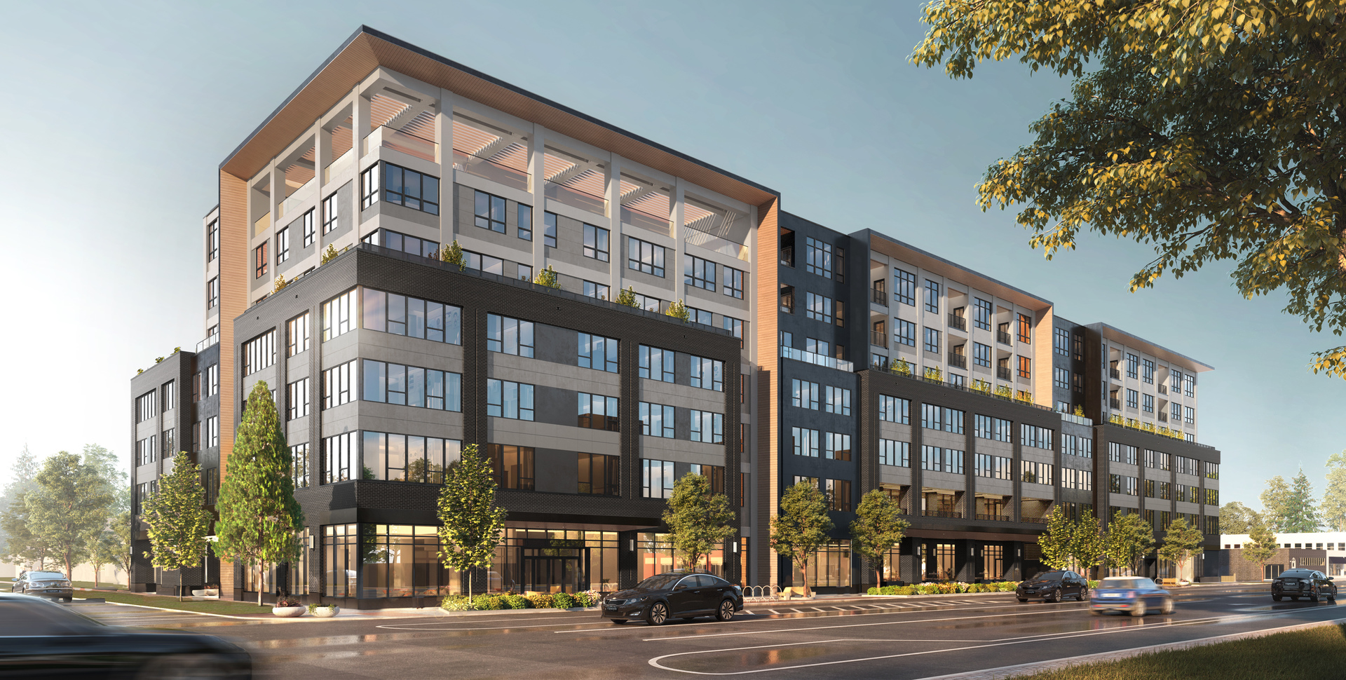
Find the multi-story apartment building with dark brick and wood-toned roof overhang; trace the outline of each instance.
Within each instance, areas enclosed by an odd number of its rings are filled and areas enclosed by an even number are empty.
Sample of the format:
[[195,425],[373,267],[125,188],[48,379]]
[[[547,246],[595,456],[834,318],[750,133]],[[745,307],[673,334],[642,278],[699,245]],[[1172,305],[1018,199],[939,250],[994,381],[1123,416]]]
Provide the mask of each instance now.
[[[911,517],[883,566],[894,580],[1034,570],[1057,504],[1215,514],[1209,475],[1172,461],[1218,451],[1143,430],[1195,439],[1209,366],[785,213],[767,187],[369,28],[225,159],[219,198],[202,224],[206,339],[132,381],[137,400],[170,378],[211,388],[176,420],[137,408],[136,442],[192,432],[170,448],[202,466],[213,501],[265,381],[307,551],[265,583],[218,560],[184,582],[347,606],[460,591],[437,566],[433,500],[466,444],[494,462],[510,512],[475,579],[490,588],[615,588],[670,568],[664,500],[690,471],[740,508],[709,567],[748,584],[800,578],[769,543],[793,483],[828,494],[836,540],[809,574],[839,590],[872,582],[847,541],[872,489]],[[454,242],[462,267],[443,261]],[[529,283],[546,268],[559,288]],[[623,290],[634,308],[612,302]],[[664,314],[678,300],[688,323]],[[1129,355],[1144,377],[1109,376]],[[1128,386],[1152,399],[1106,401]],[[1102,456],[1112,444],[1121,461]],[[1164,461],[1172,490],[1154,506],[1129,482],[1109,491],[1108,475],[1140,478],[1127,447]],[[164,462],[135,467],[137,498]],[[170,578],[145,566],[132,580]]]

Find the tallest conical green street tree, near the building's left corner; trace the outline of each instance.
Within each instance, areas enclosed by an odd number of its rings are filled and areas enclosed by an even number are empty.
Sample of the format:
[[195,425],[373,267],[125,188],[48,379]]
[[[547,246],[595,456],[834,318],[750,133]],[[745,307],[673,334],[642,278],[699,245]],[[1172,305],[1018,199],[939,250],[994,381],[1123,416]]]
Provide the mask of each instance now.
[[261,606],[267,564],[300,555],[297,535],[304,512],[295,501],[289,446],[280,428],[271,388],[258,380],[248,395],[234,448],[225,465],[215,508],[217,553],[257,570],[257,606]]

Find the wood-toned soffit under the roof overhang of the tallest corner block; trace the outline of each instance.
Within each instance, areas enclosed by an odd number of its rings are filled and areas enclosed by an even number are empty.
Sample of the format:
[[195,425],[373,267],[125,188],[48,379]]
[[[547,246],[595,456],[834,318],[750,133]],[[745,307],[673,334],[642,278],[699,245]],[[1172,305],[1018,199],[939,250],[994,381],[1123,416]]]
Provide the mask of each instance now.
[[221,167],[238,176],[256,175],[272,156],[308,131],[315,118],[330,110],[350,93],[351,88],[380,66],[612,151],[744,203],[758,205],[773,198],[771,191],[747,180],[494,82],[485,74],[447,63],[447,59],[423,50],[390,42],[367,32],[366,28],[357,32],[332,55]]

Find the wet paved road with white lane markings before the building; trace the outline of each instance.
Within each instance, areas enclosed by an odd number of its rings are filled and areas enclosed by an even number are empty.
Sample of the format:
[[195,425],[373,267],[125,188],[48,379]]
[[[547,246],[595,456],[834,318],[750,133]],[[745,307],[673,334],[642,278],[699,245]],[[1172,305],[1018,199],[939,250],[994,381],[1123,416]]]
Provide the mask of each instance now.
[[[1337,605],[1272,603],[1265,591],[1226,587],[1182,591],[1175,614],[1143,619],[1093,617],[1073,602],[1020,605],[1012,595],[988,594],[750,609],[751,614],[725,623],[697,619],[664,627],[616,626],[596,614],[530,611],[284,625],[217,619],[194,629],[249,648],[260,677],[287,680],[693,675],[900,680],[1346,618],[1346,607]],[[121,622],[135,617],[122,615]],[[166,618],[145,625],[190,623]]]

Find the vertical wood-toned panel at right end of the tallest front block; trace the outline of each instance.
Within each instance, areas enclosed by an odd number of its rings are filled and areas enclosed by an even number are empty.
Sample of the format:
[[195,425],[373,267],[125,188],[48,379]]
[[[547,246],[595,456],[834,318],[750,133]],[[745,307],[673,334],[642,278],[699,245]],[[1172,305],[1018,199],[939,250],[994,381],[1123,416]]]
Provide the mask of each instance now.
[[774,198],[758,206],[756,238],[756,362],[758,413],[756,419],[756,483],[758,525],[752,549],[758,557],[756,583],[778,583],[779,560],[771,551],[770,518],[781,502],[781,347],[779,347],[779,210],[781,199]]

